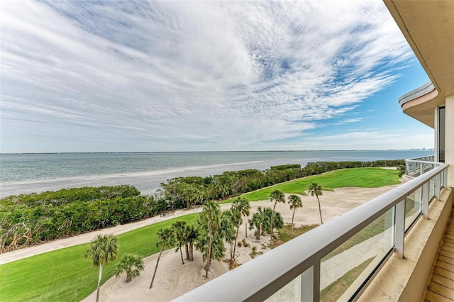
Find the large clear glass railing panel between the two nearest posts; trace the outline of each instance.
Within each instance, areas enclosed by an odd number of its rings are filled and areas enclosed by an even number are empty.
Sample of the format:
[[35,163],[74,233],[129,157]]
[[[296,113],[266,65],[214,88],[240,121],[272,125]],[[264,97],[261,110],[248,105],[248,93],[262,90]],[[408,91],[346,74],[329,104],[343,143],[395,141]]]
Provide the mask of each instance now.
[[320,301],[348,301],[394,247],[394,208],[321,260]]

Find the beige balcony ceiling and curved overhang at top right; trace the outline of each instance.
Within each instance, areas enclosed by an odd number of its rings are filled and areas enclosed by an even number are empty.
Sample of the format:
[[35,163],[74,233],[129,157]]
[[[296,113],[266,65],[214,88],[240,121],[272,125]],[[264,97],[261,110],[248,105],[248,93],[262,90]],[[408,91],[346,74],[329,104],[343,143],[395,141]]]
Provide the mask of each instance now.
[[454,1],[384,0],[384,4],[438,92],[430,101],[415,99],[402,108],[433,128],[433,108],[454,94]]

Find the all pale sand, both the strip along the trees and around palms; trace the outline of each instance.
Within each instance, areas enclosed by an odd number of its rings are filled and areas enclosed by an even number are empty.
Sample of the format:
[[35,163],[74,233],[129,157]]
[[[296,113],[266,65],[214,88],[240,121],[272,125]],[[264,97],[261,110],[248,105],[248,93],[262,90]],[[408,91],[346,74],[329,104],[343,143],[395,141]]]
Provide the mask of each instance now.
[[[369,201],[370,199],[375,198],[376,196],[379,196],[394,187],[395,186],[383,186],[380,188],[366,189],[349,187],[338,188],[334,191],[323,191],[323,196],[320,197],[323,221],[331,220],[336,216],[345,213],[345,211],[355,208],[365,201]],[[286,194],[286,196],[288,196],[288,194]],[[303,208],[299,208],[295,213],[295,225],[319,224],[319,208],[316,198],[312,196],[300,197],[303,201]],[[257,211],[259,206],[271,207],[273,203],[268,200],[251,202],[250,204],[251,212],[253,213]],[[230,203],[221,205],[222,209],[228,209],[230,207]],[[99,230],[84,235],[48,242],[35,247],[28,247],[22,250],[8,252],[1,255],[0,264],[11,262],[16,259],[30,257],[32,255],[38,255],[43,252],[49,252],[51,250],[57,250],[63,247],[89,242],[96,234],[99,233],[118,235],[145,225],[150,225],[162,220],[175,218],[189,213],[196,213],[199,211],[201,211],[201,208],[195,208],[190,211],[175,211],[171,215],[165,217],[153,217],[137,223],[118,225],[114,228]],[[279,211],[282,214],[282,218],[285,223],[290,223],[292,221],[293,211],[289,209],[289,205],[287,203],[277,204],[276,211]],[[252,216],[252,213],[250,217]],[[246,240],[250,243],[250,247],[236,248],[236,258],[239,263],[245,263],[251,259],[250,252],[252,251],[253,246],[257,248],[258,252],[267,252],[266,242],[269,242],[269,236],[263,237],[262,240],[256,240],[253,233],[253,230],[248,230],[248,237]],[[240,228],[238,240],[243,240],[243,238],[245,238],[244,225]],[[228,248],[224,257],[225,259],[229,258],[230,251],[230,246],[226,245],[226,247]],[[203,272],[204,263],[202,262],[201,255],[198,251],[194,250],[194,262],[185,262],[185,264],[181,264],[179,253],[175,253],[174,250],[168,250],[163,253],[160,260],[160,265],[157,271],[157,279],[153,285],[153,289],[148,289],[151,276],[153,275],[156,259],[157,255],[145,258],[145,271],[141,272],[138,278],[133,279],[128,284],[125,283],[124,276],[114,276],[109,279],[109,281],[106,281],[106,283],[101,286],[101,301],[170,301],[173,298],[176,298],[177,296],[180,296],[183,293],[206,283],[215,276],[220,276],[221,274],[228,272],[228,265],[225,262],[214,261],[211,268],[211,277],[207,280],[201,274],[201,272]],[[84,301],[95,300],[96,292],[84,299]]]

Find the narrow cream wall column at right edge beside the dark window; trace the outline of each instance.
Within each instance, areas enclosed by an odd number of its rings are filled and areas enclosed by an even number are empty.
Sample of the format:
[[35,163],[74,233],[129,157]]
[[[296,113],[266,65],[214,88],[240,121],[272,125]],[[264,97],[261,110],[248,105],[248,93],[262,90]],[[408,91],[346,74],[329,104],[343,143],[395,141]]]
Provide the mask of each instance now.
[[448,167],[448,186],[454,188],[454,94],[445,100],[445,162]]

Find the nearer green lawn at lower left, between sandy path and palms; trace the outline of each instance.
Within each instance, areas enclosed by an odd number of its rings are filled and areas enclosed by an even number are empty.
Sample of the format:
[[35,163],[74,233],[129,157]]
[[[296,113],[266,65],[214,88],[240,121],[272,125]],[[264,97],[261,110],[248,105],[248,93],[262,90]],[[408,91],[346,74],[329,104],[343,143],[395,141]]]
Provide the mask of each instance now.
[[[121,255],[132,252],[148,257],[159,252],[156,233],[172,225],[175,220],[191,222],[198,214],[190,214],[131,232],[118,235],[118,258],[103,267],[104,283],[114,276],[116,262]],[[0,301],[80,301],[96,290],[97,267],[83,254],[89,244],[67,247],[0,266]],[[150,280],[151,281],[151,280]]]

